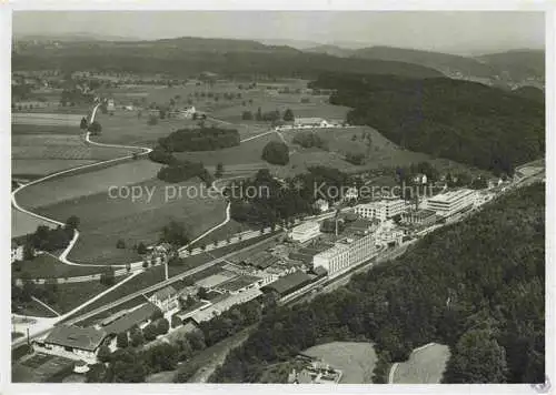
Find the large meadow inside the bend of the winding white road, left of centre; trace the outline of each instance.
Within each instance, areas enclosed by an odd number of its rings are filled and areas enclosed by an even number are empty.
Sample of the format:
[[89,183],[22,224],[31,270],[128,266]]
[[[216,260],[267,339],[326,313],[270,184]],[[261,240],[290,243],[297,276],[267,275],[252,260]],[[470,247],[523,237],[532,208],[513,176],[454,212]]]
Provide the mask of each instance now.
[[[111,199],[105,191],[42,206],[39,212],[60,221],[73,214],[79,216],[80,237],[68,259],[92,264],[122,264],[140,261],[132,245],[157,242],[161,229],[172,220],[183,222],[193,239],[225,219],[226,203],[221,198],[193,195],[192,192],[199,193],[200,185],[199,181],[192,180],[167,184],[152,179],[131,185],[143,193],[135,202],[131,199]],[[190,195],[186,189],[192,191]],[[153,191],[150,199],[146,191]],[[172,194],[175,199],[171,199]],[[126,242],[127,249],[116,249],[119,239]]]

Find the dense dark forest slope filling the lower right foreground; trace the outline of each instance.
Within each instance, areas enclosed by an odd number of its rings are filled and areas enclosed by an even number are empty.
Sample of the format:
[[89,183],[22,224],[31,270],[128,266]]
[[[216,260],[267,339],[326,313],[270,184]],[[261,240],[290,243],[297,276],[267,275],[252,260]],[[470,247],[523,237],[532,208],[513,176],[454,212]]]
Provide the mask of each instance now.
[[383,375],[438,342],[451,351],[446,383],[544,382],[544,284],[545,186],[534,184],[332,293],[268,311],[211,381],[257,382],[265,365],[307,347],[367,340]]

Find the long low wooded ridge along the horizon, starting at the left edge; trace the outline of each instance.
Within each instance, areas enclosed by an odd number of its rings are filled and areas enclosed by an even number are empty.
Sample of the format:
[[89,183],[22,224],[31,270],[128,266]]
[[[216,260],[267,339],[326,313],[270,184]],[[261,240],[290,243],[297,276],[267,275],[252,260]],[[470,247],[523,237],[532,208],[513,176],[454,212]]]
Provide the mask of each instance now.
[[190,37],[155,41],[30,44],[12,55],[12,70],[37,69],[163,72],[183,77],[210,71],[225,77],[265,74],[309,79],[332,71],[410,78],[441,75],[419,64],[307,53],[291,47],[265,45],[252,40]]

